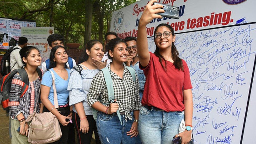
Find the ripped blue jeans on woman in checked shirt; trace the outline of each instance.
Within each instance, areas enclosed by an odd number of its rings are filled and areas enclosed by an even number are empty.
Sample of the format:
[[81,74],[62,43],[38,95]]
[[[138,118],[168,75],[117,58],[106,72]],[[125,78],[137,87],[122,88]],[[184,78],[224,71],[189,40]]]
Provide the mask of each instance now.
[[[133,115],[133,113],[132,113]],[[141,143],[139,135],[136,137],[127,136],[126,132],[130,131],[133,121],[125,121],[125,115],[121,115],[122,125],[116,114],[107,115],[98,112],[97,129],[102,144],[108,143],[122,143],[122,144],[139,144]]]

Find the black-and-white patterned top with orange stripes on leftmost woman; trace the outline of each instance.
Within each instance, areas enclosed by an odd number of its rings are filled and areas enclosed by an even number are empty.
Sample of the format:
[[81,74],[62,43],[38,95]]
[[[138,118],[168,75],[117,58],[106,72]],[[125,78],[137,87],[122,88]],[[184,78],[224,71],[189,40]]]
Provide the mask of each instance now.
[[20,98],[23,84],[24,83],[22,82],[21,76],[16,73],[12,79],[8,103],[10,109],[10,117],[15,120],[18,120],[17,115],[20,113],[23,113],[25,119],[29,116],[29,114],[34,113],[37,101],[37,113],[40,111],[40,78],[38,77],[35,81],[29,82],[28,90],[23,95],[23,97]]

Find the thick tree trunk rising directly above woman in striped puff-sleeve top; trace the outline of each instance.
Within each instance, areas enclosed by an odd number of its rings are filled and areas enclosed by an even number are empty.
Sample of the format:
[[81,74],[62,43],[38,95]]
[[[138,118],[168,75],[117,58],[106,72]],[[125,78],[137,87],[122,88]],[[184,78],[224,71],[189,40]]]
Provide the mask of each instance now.
[[85,0],[86,8],[85,8],[85,23],[84,23],[84,45],[91,40],[92,36],[92,7],[93,2],[91,0]]

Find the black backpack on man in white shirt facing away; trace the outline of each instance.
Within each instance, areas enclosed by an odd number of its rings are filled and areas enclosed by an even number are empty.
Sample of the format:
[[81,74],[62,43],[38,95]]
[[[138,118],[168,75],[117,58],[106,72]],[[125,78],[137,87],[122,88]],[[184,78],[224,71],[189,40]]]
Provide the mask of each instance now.
[[12,47],[10,48],[4,55],[3,58],[1,60],[1,65],[0,65],[0,72],[2,74],[2,76],[5,76],[6,74],[8,74],[11,69],[16,65],[16,63],[13,65],[13,67],[10,67],[10,54],[12,51],[20,49],[19,47]]

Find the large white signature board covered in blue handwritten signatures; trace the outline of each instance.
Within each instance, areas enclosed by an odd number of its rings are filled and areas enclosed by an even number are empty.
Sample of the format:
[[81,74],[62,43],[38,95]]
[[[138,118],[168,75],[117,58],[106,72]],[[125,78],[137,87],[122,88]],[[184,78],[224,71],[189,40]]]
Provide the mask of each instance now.
[[[256,1],[159,0],[178,6],[180,19],[153,19],[147,25],[148,48],[155,50],[154,28],[174,28],[175,45],[190,70],[195,143],[249,143],[255,134],[247,122],[256,116]],[[138,22],[148,0],[113,12],[110,31],[120,38],[137,36]],[[243,8],[243,10],[241,9]],[[245,133],[247,135],[245,135]]]

